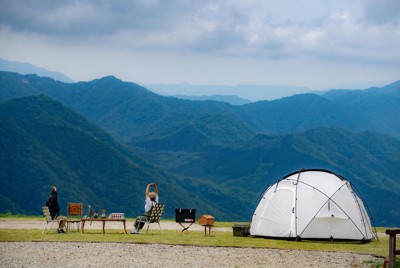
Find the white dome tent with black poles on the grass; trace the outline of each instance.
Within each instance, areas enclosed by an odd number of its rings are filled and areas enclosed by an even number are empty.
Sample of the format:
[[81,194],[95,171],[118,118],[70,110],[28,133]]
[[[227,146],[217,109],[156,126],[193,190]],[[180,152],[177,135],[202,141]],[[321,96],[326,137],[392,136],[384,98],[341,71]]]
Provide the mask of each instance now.
[[323,169],[300,170],[268,187],[254,212],[250,234],[296,240],[376,237],[350,182]]

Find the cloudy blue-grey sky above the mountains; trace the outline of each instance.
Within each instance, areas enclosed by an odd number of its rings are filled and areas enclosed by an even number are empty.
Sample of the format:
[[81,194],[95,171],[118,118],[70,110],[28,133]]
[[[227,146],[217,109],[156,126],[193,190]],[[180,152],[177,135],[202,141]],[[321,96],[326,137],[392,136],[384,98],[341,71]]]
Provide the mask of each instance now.
[[0,58],[139,84],[400,79],[398,0],[0,0]]

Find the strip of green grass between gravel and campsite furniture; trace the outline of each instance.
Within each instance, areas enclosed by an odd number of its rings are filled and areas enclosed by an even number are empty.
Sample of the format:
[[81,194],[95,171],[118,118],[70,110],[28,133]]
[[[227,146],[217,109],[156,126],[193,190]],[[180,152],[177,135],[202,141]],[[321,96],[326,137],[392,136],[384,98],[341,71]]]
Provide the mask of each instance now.
[[[32,218],[2,217],[0,220],[32,220]],[[172,220],[171,220],[172,221]],[[233,222],[216,222],[214,227],[232,227]],[[384,233],[386,228],[378,228],[378,232]],[[308,241],[302,242],[233,236],[233,232],[213,231],[211,236],[205,236],[203,231],[189,231],[181,233],[180,230],[164,230],[161,235],[159,230],[153,230],[149,234],[131,235],[123,234],[122,230],[88,229],[85,234],[76,230],[68,234],[57,234],[55,229],[42,234],[39,229],[0,229],[0,241],[64,241],[64,242],[98,242],[98,243],[147,243],[147,244],[168,244],[168,245],[196,245],[213,247],[254,247],[270,249],[291,249],[291,250],[316,250],[316,251],[338,251],[372,254],[377,257],[388,257],[389,238],[381,237],[379,240],[372,240],[369,243],[361,242],[340,242],[340,241]],[[397,237],[397,245],[400,245],[400,238]],[[379,267],[382,263],[370,264]],[[396,266],[397,267],[397,266]]]

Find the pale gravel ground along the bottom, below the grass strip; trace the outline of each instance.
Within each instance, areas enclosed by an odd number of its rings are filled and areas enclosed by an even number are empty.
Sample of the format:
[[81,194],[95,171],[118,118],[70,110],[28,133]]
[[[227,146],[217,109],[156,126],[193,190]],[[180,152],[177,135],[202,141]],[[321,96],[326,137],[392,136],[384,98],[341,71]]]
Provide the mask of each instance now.
[[0,242],[0,267],[365,267],[371,255],[131,243]]

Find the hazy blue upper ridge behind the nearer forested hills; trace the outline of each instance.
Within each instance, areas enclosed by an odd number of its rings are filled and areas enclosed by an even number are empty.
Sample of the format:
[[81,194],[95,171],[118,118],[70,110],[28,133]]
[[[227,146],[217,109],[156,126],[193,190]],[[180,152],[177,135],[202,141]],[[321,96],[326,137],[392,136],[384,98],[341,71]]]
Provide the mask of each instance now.
[[[352,91],[340,99],[300,94],[274,101],[232,106],[223,102],[191,102],[162,97],[140,85],[122,82],[115,77],[75,84],[61,84],[46,79],[39,79],[42,82],[38,84],[37,79],[35,76],[18,77],[0,73],[2,84],[13,84],[12,89],[7,89],[0,96],[0,101],[43,93],[61,100],[124,141],[137,137],[149,139],[152,135],[156,137],[164,126],[179,127],[199,116],[219,114],[237,117],[250,132],[268,135],[337,126],[351,131],[372,130],[400,137],[398,82],[382,87],[373,94],[369,91]],[[26,90],[16,92],[21,87]]]

